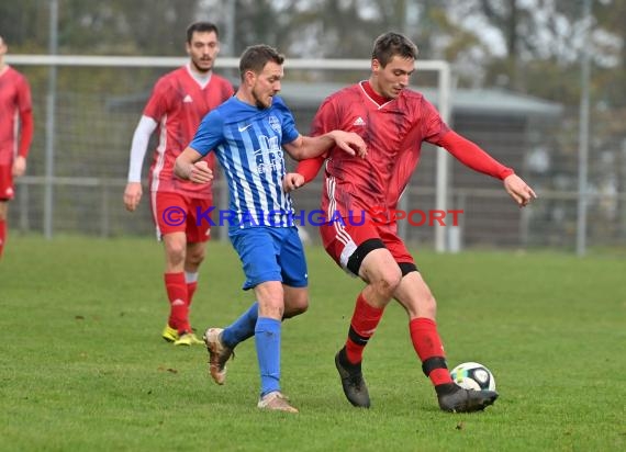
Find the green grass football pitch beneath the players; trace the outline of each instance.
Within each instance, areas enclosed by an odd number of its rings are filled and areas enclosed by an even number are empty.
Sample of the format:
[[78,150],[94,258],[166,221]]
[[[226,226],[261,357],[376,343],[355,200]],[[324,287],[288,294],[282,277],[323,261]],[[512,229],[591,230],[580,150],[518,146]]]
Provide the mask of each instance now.
[[[149,239],[10,236],[0,261],[1,451],[626,450],[626,261],[548,252],[416,253],[452,366],[488,365],[500,399],[439,411],[407,321],[390,305],[366,351],[370,410],[344,398],[333,358],[361,284],[309,248],[311,308],[283,327],[282,384],[299,415],[256,408],[253,341],[226,385],[203,347],[159,337],[160,247]],[[228,244],[211,244],[192,324],[251,302]]]

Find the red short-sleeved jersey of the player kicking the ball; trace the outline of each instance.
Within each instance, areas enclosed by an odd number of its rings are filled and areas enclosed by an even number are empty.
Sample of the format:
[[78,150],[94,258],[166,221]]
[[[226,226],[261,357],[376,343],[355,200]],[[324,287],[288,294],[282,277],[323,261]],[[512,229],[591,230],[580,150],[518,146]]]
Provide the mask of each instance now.
[[404,89],[379,104],[361,83],[332,94],[320,106],[311,135],[333,129],[357,133],[368,148],[365,159],[336,148],[327,154],[322,208],[353,216],[372,207],[395,208],[420,161],[422,143],[437,144],[449,132],[421,93]]

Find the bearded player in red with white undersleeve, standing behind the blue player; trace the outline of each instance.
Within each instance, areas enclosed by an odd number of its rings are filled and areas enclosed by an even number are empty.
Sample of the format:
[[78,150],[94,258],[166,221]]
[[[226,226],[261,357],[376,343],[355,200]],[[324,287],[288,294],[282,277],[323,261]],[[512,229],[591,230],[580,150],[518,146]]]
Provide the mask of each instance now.
[[[150,207],[166,256],[165,287],[170,314],[163,338],[175,346],[204,343],[189,323],[189,306],[204,259],[210,222],[195,218],[198,210],[213,205],[211,183],[197,184],[174,177],[174,162],[189,145],[202,117],[233,95],[233,86],[213,74],[220,52],[217,27],[197,22],[187,29],[189,64],[161,77],[148,100],[133,135],[126,210],[133,212],[142,199],[142,165],[152,133],[158,128],[158,145],[149,171]],[[213,154],[206,158],[215,167]]]

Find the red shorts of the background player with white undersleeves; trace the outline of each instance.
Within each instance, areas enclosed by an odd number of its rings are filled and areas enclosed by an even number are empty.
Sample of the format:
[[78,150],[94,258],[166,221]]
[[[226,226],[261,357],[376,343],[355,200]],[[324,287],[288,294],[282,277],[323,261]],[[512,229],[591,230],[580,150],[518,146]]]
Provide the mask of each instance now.
[[187,241],[203,242],[211,236],[212,199],[190,197],[172,192],[152,192],[150,206],[157,237],[185,233]]

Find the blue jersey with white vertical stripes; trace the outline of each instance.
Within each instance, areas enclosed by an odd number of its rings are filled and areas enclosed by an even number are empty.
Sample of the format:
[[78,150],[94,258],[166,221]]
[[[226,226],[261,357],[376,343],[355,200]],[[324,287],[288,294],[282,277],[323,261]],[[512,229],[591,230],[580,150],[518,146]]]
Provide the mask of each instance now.
[[258,109],[236,97],[212,110],[189,145],[202,156],[215,152],[228,181],[231,228],[293,226],[291,196],[282,190],[287,172],[282,145],[299,136],[293,115],[275,97]]

